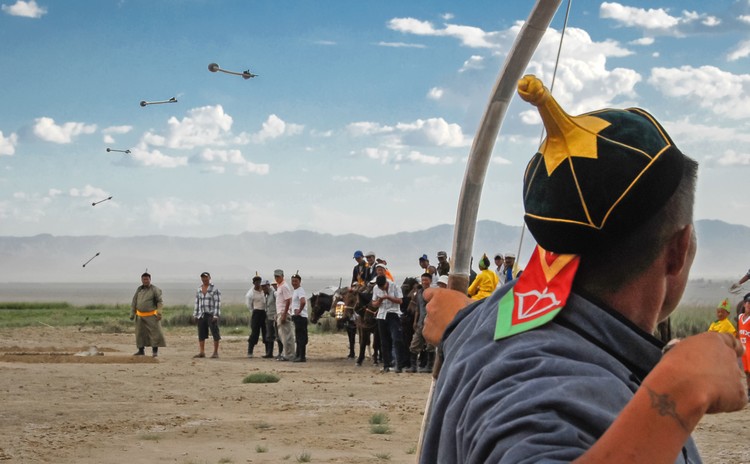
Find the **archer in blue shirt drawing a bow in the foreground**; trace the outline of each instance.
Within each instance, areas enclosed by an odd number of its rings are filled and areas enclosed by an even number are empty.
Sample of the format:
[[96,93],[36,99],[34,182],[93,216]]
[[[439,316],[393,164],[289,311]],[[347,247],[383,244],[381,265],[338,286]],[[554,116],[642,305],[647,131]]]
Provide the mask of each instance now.
[[[539,246],[445,331],[420,462],[700,462],[701,417],[747,403],[741,346],[702,333],[662,356],[651,335],[695,257],[697,163],[643,110],[571,117],[533,76],[519,93],[548,134],[524,179]],[[468,298],[425,298],[431,341]]]

